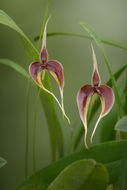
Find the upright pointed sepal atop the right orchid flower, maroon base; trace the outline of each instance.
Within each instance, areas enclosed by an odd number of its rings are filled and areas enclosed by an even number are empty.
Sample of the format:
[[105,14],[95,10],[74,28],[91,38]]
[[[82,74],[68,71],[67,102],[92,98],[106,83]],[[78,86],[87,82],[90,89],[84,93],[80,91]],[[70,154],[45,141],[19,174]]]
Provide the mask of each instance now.
[[92,55],[93,55],[93,76],[92,76],[92,82],[94,86],[99,86],[100,84],[100,76],[99,76],[99,72],[98,72],[98,67],[97,67],[97,59],[96,59],[96,55],[93,49],[93,46],[91,44],[92,47]]

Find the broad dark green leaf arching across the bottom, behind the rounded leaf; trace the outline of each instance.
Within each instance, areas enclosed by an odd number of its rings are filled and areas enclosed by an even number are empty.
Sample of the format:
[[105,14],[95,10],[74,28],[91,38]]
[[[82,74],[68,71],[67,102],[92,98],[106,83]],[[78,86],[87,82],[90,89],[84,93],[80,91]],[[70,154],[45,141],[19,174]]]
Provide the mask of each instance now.
[[[73,153],[67,157],[64,157],[53,164],[41,169],[36,173],[36,183],[39,186],[39,189],[46,190],[50,183],[57,177],[57,175],[69,164],[85,159],[92,158],[97,162],[103,163],[107,166],[107,169],[112,171],[115,169],[116,172],[111,173],[110,183],[114,183],[118,177],[118,167],[119,163],[116,164],[116,161],[122,159],[122,155],[125,147],[127,146],[127,140],[122,141],[112,141],[106,142],[99,145],[92,146],[88,150],[84,149],[80,152]],[[115,162],[115,166],[113,165]],[[110,167],[111,163],[111,167]],[[115,176],[112,176],[115,174]],[[116,176],[117,175],[117,176]],[[113,181],[112,181],[113,178]],[[30,177],[27,181],[25,181],[17,190],[31,190],[34,187],[33,176]]]

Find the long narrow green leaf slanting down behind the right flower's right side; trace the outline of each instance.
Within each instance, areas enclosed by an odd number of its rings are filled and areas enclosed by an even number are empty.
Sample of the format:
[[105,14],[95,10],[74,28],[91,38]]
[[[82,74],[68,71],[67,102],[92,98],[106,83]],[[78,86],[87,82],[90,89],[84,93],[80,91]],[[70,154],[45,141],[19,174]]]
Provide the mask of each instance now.
[[119,116],[121,117],[122,114],[123,114],[123,108],[122,108],[121,98],[119,96],[119,91],[118,91],[118,88],[117,88],[117,85],[116,85],[116,82],[115,82],[115,78],[114,78],[113,72],[111,70],[108,58],[107,58],[107,56],[105,54],[105,51],[104,51],[101,39],[100,39],[100,37],[95,33],[95,31],[88,24],[86,24],[86,23],[80,23],[80,25],[94,39],[94,41],[96,42],[97,46],[99,47],[99,49],[100,49],[100,51],[101,51],[101,53],[102,53],[102,55],[104,57],[104,60],[105,60],[105,63],[106,63],[109,75],[110,75],[112,83],[113,83],[114,92],[115,92],[115,98],[116,98],[116,102],[117,102],[118,110],[119,110]]

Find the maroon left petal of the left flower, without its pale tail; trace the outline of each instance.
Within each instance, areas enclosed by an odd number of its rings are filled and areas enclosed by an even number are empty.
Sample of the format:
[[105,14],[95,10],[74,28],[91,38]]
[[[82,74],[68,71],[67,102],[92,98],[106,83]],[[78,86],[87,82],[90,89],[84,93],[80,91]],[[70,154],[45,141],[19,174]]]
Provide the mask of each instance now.
[[39,74],[42,72],[42,63],[40,62],[34,62],[32,64],[30,64],[29,66],[29,73],[31,75],[31,77],[33,78],[33,80],[40,85],[39,81],[38,81],[38,76]]

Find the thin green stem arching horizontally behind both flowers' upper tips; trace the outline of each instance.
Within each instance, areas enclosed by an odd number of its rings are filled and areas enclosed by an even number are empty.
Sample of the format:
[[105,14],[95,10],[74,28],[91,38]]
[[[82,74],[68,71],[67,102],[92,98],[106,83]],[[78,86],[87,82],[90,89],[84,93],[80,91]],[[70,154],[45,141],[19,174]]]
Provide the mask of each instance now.
[[[48,37],[52,37],[52,36],[72,36],[72,37],[79,37],[79,38],[87,38],[92,40],[93,38],[89,35],[85,35],[85,34],[78,34],[78,33],[73,33],[73,32],[51,32],[47,34]],[[34,40],[37,41],[39,39],[39,36],[35,37]],[[116,41],[112,41],[112,40],[106,40],[101,38],[100,39],[102,43],[107,44],[107,45],[111,45],[117,48],[121,48],[124,50],[127,50],[127,45],[122,44],[120,42],[116,42]]]

